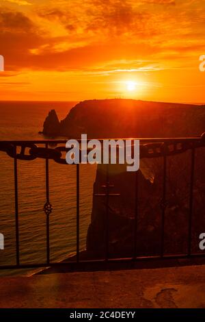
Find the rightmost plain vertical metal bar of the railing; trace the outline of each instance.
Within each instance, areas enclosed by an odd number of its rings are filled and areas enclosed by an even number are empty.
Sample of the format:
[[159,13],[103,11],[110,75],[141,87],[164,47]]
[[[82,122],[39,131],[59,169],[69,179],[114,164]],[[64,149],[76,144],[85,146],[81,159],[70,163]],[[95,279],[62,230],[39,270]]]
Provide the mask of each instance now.
[[188,256],[191,256],[194,168],[195,168],[195,149],[193,148],[191,150],[191,181],[190,181],[190,197],[189,197]]

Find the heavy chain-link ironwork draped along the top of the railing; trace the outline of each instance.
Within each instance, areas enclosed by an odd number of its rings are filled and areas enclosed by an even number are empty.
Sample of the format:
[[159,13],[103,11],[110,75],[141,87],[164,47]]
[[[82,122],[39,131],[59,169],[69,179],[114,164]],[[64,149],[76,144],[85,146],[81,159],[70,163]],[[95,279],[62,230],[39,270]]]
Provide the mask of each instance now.
[[[198,138],[141,138],[139,158],[159,158],[163,156],[174,156],[183,153],[189,149],[197,147],[205,147],[205,133]],[[79,140],[79,143],[81,140]],[[38,147],[38,143],[47,145],[64,144],[55,148]],[[20,148],[20,153],[15,153]],[[64,152],[68,152],[66,148],[66,140],[40,140],[35,141],[1,141],[0,151],[4,151],[11,158],[17,160],[35,160],[43,158],[54,160],[59,164],[67,164],[66,158],[63,157]],[[27,151],[27,153],[26,153]]]

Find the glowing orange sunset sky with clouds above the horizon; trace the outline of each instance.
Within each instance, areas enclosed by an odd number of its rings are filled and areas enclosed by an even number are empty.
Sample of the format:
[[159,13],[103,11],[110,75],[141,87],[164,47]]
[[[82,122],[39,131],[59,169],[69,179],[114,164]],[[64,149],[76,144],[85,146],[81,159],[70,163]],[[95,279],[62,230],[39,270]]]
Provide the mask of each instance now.
[[0,99],[204,102],[204,23],[204,0],[0,0]]

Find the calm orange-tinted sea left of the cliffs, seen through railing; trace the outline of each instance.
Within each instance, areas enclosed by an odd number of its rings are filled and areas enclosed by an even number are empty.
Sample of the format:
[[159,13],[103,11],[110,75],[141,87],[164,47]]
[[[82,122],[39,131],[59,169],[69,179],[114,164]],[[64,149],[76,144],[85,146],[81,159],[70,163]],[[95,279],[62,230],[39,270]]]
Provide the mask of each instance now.
[[[72,102],[0,102],[0,139],[43,139],[38,134],[49,110],[59,119],[68,114]],[[80,166],[80,247],[85,249],[87,227],[92,212],[92,188],[96,167]],[[14,160],[0,151],[0,232],[5,249],[0,265],[15,264]],[[60,261],[76,249],[76,167],[49,162],[51,261]],[[20,263],[46,261],[45,161],[18,161]],[[33,272],[33,271],[32,271]],[[0,275],[31,271],[0,271]]]

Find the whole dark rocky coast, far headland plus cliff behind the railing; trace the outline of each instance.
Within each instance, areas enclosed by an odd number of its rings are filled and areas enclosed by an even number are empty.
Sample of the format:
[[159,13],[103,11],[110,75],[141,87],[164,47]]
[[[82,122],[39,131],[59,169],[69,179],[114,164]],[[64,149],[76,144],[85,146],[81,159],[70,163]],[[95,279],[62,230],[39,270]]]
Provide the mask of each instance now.
[[[156,138],[201,136],[205,130],[205,106],[157,103],[127,99],[92,100],[78,103],[66,119],[59,121],[54,110],[44,121],[46,136],[80,138]],[[137,254],[156,255],[161,249],[163,158],[141,159],[137,199]],[[204,148],[197,149],[193,187],[193,246],[205,229]],[[167,158],[167,208],[165,212],[165,253],[186,253],[190,212],[191,152]],[[132,256],[135,236],[135,173],[123,165],[109,165],[107,221],[105,193],[106,166],[98,164],[94,182],[91,223],[87,232],[87,256],[105,256],[109,227],[109,256]]]

